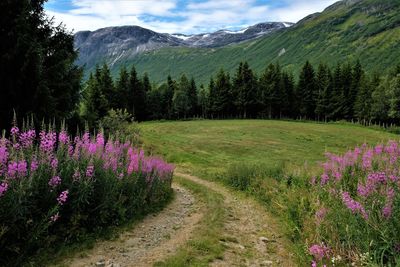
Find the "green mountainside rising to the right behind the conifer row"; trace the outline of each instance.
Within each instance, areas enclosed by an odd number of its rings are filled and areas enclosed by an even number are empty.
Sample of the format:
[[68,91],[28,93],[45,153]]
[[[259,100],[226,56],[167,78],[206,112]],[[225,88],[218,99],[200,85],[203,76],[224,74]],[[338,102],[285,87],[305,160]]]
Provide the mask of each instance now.
[[[220,67],[233,71],[243,60],[256,71],[278,61],[297,72],[306,60],[334,65],[357,59],[368,71],[400,63],[400,1],[341,1],[292,28],[255,41],[219,49],[165,48],[121,64],[135,64],[139,72],[148,72],[157,82],[168,74],[177,77],[181,73],[207,82]],[[113,66],[113,73],[121,64]]]

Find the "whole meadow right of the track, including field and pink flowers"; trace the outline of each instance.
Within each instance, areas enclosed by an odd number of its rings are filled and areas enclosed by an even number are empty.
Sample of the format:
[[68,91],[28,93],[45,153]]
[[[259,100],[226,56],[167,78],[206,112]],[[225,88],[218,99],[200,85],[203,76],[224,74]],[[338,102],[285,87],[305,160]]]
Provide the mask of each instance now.
[[348,123],[227,120],[140,127],[146,149],[179,172],[263,204],[280,222],[299,265],[396,266],[398,136]]

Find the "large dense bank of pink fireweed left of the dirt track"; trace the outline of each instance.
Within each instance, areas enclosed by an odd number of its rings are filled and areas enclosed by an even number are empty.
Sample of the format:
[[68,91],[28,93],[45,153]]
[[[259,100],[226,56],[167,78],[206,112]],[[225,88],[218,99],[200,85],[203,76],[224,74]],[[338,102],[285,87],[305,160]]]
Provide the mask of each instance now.
[[11,129],[0,139],[0,265],[80,241],[159,207],[173,166],[129,142]]

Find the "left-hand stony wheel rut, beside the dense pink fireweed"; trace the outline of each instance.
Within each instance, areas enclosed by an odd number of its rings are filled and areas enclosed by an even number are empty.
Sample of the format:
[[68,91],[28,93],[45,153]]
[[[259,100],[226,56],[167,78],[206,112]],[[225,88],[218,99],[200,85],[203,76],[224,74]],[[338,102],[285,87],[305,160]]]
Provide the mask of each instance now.
[[193,195],[173,185],[173,202],[158,214],[150,215],[132,231],[113,241],[99,242],[86,255],[69,259],[62,265],[80,266],[152,266],[173,255],[191,236],[202,218],[202,211]]

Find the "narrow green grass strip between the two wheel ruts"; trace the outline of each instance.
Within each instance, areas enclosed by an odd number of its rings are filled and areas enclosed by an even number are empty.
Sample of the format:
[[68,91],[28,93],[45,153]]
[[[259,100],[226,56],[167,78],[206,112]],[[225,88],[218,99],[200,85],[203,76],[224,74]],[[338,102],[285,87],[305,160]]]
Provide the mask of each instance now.
[[223,257],[224,246],[219,242],[226,215],[223,197],[186,179],[174,177],[174,180],[191,190],[204,203],[205,215],[192,239],[180,247],[175,255],[155,266],[208,266],[210,262]]

